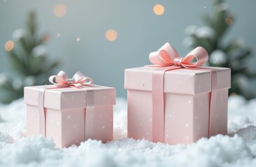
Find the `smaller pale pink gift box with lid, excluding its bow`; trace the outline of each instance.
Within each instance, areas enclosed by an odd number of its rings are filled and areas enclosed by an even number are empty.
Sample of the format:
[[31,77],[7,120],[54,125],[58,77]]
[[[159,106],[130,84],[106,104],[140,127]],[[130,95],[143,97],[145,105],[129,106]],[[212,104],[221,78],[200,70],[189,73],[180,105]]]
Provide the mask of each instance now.
[[[45,89],[45,136],[53,138],[58,148],[78,145],[92,138],[102,142],[113,140],[113,104],[115,88],[53,88],[29,86],[24,88],[27,104],[27,136],[40,135],[38,93]],[[87,104],[94,106],[87,106]],[[89,109],[90,108],[90,109]]]

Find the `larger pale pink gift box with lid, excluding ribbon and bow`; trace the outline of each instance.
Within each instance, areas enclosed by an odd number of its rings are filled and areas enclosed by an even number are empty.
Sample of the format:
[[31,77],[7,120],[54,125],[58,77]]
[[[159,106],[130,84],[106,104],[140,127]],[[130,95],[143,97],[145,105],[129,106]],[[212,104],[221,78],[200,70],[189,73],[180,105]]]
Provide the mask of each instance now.
[[[189,144],[202,137],[227,134],[230,69],[204,68],[206,70],[179,68],[164,73],[164,126],[158,129],[164,131],[164,143]],[[212,78],[207,68],[217,74],[213,112],[209,109]],[[152,113],[152,74],[156,69],[159,67],[136,67],[125,70],[129,138],[154,141],[153,126],[157,125],[153,125],[156,115],[153,116]]]

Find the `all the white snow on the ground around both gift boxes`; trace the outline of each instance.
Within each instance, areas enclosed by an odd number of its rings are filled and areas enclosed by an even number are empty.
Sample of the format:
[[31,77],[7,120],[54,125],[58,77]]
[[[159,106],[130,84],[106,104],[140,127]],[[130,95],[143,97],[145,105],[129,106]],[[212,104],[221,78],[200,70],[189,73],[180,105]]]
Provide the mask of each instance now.
[[87,140],[55,148],[51,138],[25,137],[22,99],[0,104],[0,166],[256,166],[256,99],[229,97],[229,135],[201,138],[191,145],[168,145],[127,136],[127,104],[118,98],[114,141]]

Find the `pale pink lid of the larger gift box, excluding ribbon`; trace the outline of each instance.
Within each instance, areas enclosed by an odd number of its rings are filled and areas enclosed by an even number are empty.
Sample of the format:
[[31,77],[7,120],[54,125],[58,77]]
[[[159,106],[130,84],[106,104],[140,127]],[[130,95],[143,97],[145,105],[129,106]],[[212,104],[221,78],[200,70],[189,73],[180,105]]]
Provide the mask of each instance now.
[[[152,72],[159,67],[135,67],[125,70],[125,88],[152,90]],[[230,88],[229,68],[205,67],[217,73],[217,89]],[[211,92],[211,72],[180,68],[164,73],[164,93],[194,95]]]

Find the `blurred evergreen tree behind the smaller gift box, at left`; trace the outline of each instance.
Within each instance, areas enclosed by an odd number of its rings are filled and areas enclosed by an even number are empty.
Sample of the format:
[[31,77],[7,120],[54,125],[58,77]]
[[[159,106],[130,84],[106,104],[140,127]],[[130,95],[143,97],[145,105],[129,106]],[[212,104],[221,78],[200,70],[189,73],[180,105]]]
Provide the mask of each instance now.
[[34,12],[29,13],[26,26],[26,29],[17,29],[13,32],[15,45],[12,41],[6,44],[11,67],[17,75],[15,79],[10,79],[7,74],[0,74],[2,103],[8,104],[23,97],[24,86],[45,84],[50,71],[58,65],[57,61],[47,61],[44,44],[48,42],[50,36],[38,35]]

